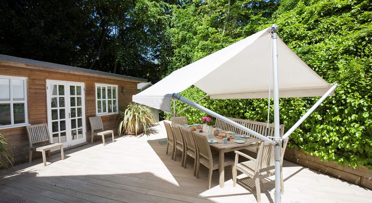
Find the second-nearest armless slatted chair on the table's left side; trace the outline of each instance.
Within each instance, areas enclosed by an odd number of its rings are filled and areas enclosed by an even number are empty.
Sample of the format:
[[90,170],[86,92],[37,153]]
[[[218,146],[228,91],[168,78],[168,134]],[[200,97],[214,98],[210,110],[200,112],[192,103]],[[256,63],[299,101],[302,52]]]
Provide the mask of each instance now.
[[195,136],[190,129],[181,127],[182,134],[185,137],[185,160],[183,162],[183,167],[186,168],[187,156],[194,158],[194,176],[196,176],[196,163],[198,163],[198,149],[195,144]]

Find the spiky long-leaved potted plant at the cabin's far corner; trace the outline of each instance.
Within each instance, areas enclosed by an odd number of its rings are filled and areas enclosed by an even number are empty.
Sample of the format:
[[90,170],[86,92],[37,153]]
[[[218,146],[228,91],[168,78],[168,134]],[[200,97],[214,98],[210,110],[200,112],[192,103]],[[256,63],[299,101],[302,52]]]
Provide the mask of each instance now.
[[155,115],[147,106],[131,103],[125,111],[119,110],[119,135],[122,133],[137,135],[146,132],[147,126],[156,123]]

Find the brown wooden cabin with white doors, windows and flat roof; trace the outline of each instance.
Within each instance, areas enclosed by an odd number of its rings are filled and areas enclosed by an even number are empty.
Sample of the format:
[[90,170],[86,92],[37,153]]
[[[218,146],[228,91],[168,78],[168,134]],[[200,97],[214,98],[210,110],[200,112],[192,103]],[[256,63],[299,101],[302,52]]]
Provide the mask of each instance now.
[[[28,160],[27,125],[47,123],[65,149],[90,142],[89,117],[117,132],[115,113],[146,79],[0,55],[0,132],[15,164]],[[88,136],[89,135],[89,136]],[[98,139],[95,137],[94,139]],[[35,153],[34,153],[35,154]],[[39,153],[35,154],[40,156]]]

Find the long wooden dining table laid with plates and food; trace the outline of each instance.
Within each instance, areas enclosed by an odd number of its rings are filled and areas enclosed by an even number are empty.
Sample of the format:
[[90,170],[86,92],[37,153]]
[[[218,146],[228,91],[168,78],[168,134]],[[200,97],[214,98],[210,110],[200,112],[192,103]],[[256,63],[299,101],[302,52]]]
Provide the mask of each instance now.
[[[221,132],[226,132],[226,131],[221,131]],[[244,140],[243,144],[237,144],[234,142],[234,139],[230,139],[230,141],[227,141],[227,143],[224,143],[224,140],[221,137],[217,137],[213,135],[212,133],[212,138],[208,137],[207,132],[200,132],[200,134],[205,135],[208,139],[214,139],[217,140],[218,142],[215,144],[209,144],[211,148],[215,149],[216,151],[219,152],[219,187],[224,188],[225,187],[225,167],[224,167],[224,160],[225,160],[225,153],[226,152],[231,152],[235,150],[240,150],[240,149],[246,149],[254,146],[259,146],[260,142],[262,142],[261,139],[257,138],[250,138],[247,136],[247,138],[242,138],[240,137],[241,140]],[[235,135],[236,136],[236,135]]]

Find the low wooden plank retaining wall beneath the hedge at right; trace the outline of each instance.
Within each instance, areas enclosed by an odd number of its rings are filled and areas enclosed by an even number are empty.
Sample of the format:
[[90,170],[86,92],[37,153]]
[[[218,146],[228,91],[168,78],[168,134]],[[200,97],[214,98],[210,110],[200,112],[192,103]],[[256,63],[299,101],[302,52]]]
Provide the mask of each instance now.
[[372,190],[372,170],[366,167],[358,166],[354,169],[347,165],[339,165],[333,161],[321,161],[316,156],[311,156],[294,148],[285,150],[284,159]]

